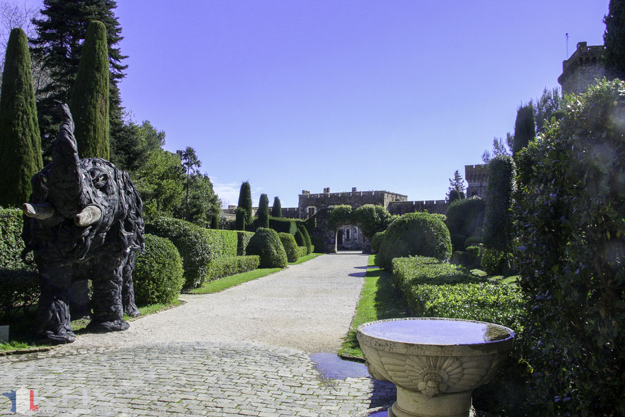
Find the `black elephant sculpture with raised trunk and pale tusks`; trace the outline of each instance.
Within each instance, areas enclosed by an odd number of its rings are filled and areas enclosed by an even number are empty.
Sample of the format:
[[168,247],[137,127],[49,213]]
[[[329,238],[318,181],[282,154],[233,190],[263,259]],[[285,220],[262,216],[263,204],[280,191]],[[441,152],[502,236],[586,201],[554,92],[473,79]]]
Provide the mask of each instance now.
[[100,331],[126,330],[123,313],[139,315],[132,271],[135,252],[144,251],[144,223],[128,173],[101,158],[79,159],[69,108],[56,107],[63,122],[52,163],[32,177],[33,192],[23,205],[23,254],[34,251],[42,279],[41,333],[68,343],[76,339],[70,312],[91,314],[87,327]]

